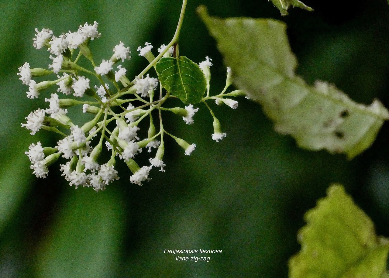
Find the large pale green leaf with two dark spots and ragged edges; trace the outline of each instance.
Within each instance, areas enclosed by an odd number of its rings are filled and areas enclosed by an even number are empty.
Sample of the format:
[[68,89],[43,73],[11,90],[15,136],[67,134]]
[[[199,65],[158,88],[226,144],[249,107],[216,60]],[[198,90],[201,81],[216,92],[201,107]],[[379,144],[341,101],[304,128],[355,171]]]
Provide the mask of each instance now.
[[375,140],[388,110],[378,100],[370,106],[352,101],[335,86],[309,86],[296,76],[296,57],[286,25],[273,19],[210,17],[198,12],[216,39],[235,86],[244,89],[274,121],[275,130],[292,135],[310,150],[327,149],[352,158]]

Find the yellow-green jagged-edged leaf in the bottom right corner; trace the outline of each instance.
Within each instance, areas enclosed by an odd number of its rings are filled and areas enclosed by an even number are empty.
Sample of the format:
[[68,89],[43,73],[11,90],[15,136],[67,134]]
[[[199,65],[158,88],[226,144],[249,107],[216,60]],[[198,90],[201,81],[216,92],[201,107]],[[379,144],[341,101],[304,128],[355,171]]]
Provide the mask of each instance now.
[[370,218],[339,184],[305,213],[298,233],[301,251],[289,260],[289,277],[380,278],[389,241],[376,236]]

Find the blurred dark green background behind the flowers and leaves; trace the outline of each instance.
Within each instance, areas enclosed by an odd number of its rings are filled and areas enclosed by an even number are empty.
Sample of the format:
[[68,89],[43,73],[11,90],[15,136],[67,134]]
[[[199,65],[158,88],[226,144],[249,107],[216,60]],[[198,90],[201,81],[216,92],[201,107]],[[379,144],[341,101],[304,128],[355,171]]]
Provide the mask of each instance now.
[[[213,59],[214,93],[224,86],[225,66],[195,14],[200,4],[215,16],[285,21],[298,73],[308,82],[328,80],[356,101],[379,98],[389,107],[385,0],[356,0],[349,7],[307,0],[315,12],[292,9],[283,18],[266,0],[188,2],[180,54],[197,63]],[[125,63],[131,77],[147,65],[137,56],[139,45],[152,42],[156,50],[170,41],[181,2],[0,3],[0,277],[287,277],[287,259],[300,249],[296,233],[303,213],[331,182],[344,184],[377,233],[389,236],[388,123],[370,149],[347,161],[344,155],[298,149],[292,138],[273,131],[259,105],[245,99],[238,100],[237,110],[213,106],[227,133],[219,143],[211,139],[212,117],[204,106],[191,126],[171,117],[165,128],[197,148],[184,156],[167,140],[166,172],[153,170],[142,187],[129,182],[129,170],[119,161],[120,180],[103,192],[69,187],[58,163],[48,178],[35,178],[24,154],[28,145],[40,140],[54,146],[59,138],[46,131],[30,136],[20,126],[30,111],[47,107],[44,97],[50,94],[27,99],[16,75],[26,61],[32,67],[51,63],[46,50],[33,48],[34,29],[60,35],[96,20],[102,37],[91,44],[95,61],[108,59],[121,40],[133,53]],[[175,255],[163,254],[165,248],[223,253],[210,255],[209,262],[176,262]]]

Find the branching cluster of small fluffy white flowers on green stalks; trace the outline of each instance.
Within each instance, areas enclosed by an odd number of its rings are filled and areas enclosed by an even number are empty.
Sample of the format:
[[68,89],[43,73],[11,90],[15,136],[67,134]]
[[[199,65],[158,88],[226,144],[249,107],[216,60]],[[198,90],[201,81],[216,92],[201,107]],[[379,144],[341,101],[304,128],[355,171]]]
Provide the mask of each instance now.
[[[195,144],[189,144],[163,128],[161,110],[171,111],[180,115],[186,124],[193,124],[193,116],[199,108],[194,108],[191,104],[185,108],[163,108],[161,105],[172,96],[168,92],[163,95],[163,88],[160,86],[158,100],[154,100],[154,92],[158,88],[159,80],[150,77],[149,74],[145,77],[137,76],[130,81],[126,77],[126,68],[123,65],[116,65],[120,61],[124,62],[131,58],[130,48],[126,47],[123,42],[119,42],[113,48],[113,54],[108,60],[102,60],[100,65],[96,65],[89,44],[101,36],[97,31],[97,26],[96,21],[93,25],[85,23],[79,26],[77,31],[69,31],[59,37],[54,36],[53,31],[49,29],[42,29],[42,31],[35,29],[37,34],[33,38],[33,46],[36,49],[46,47],[53,62],[48,66],[48,70],[30,68],[29,63],[25,63],[19,68],[19,79],[28,86],[26,93],[30,99],[38,98],[42,91],[51,87],[56,87],[57,93],[51,93],[50,98],[45,98],[45,101],[49,103],[48,108],[39,108],[31,112],[26,117],[26,123],[21,126],[29,129],[31,135],[40,129],[45,129],[56,132],[63,138],[57,142],[55,147],[42,147],[40,142],[33,143],[25,153],[37,177],[46,178],[48,167],[63,157],[68,161],[61,164],[60,169],[70,185],[74,185],[75,188],[79,185],[93,187],[96,191],[104,190],[106,185],[119,179],[118,172],[114,168],[116,156],[118,156],[133,173],[130,181],[133,184],[142,185],[142,182],[150,179],[149,172],[153,167],[159,168],[159,171],[165,171],[166,165],[163,162],[165,152],[163,136],[165,134],[171,136],[185,150],[186,155],[190,155],[196,147]],[[146,42],[144,47],[138,47],[139,55],[152,61],[154,59],[152,48],[152,45]],[[167,49],[165,45],[161,45],[158,52],[164,53],[165,57],[170,57],[173,54],[173,47]],[[74,56],[75,59],[73,59]],[[91,62],[93,70],[77,64],[83,56]],[[208,84],[207,96],[202,102],[215,100],[217,105],[224,103],[231,108],[237,108],[238,102],[225,98],[225,96],[238,96],[242,93],[236,91],[235,94],[224,94],[231,84],[230,68],[227,70],[226,87],[223,92],[217,96],[209,96],[211,59],[207,57],[199,66]],[[32,79],[53,74],[57,79],[39,83]],[[91,79],[95,78],[99,85],[93,87],[91,80],[82,74],[87,74]],[[73,95],[74,98],[60,98],[59,94],[65,97]],[[84,96],[89,96],[92,100],[85,101]],[[94,114],[94,119],[82,126],[73,124],[67,116],[66,108],[76,105],[82,105],[83,113]],[[206,103],[205,105],[214,118],[212,139],[219,142],[226,136],[226,133],[221,131],[219,121],[210,107]],[[152,118],[153,110],[159,112],[160,130],[158,132],[156,132]],[[140,130],[138,124],[146,117],[150,119],[150,125],[147,138],[141,139],[138,135]],[[95,139],[97,135],[100,136],[99,139]],[[101,156],[103,147],[111,152],[110,159],[105,163],[101,163],[104,159]],[[150,165],[140,167],[134,159],[145,149],[149,153],[152,149],[157,149],[157,151],[149,159]]]

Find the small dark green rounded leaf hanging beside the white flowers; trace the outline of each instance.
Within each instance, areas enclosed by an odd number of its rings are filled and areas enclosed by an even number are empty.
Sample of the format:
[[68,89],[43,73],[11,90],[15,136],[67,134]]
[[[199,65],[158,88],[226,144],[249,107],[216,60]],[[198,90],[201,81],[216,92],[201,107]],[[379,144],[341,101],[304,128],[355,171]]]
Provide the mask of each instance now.
[[207,81],[202,70],[193,61],[185,56],[163,57],[158,61],[156,71],[162,86],[172,96],[185,104],[201,101],[207,89]]

